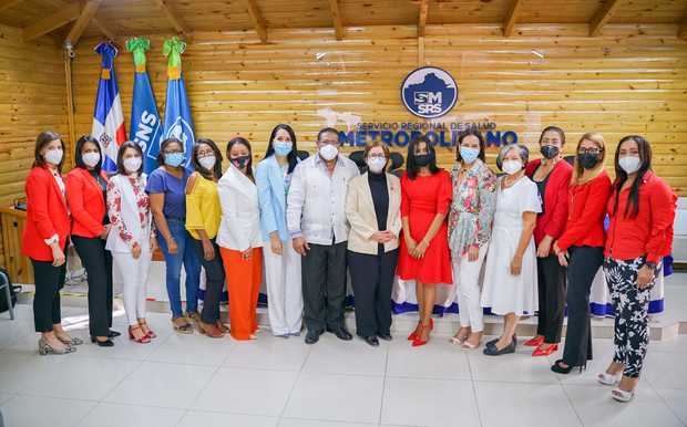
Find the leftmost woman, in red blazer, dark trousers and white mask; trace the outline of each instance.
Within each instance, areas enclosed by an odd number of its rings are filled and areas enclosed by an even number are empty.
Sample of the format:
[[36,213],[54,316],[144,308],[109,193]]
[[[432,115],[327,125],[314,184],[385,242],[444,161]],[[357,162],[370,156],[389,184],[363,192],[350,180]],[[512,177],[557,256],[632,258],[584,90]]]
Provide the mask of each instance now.
[[41,333],[39,353],[65,354],[75,351],[81,340],[62,329],[60,289],[64,285],[64,252],[70,230],[69,210],[62,181],[64,144],[54,132],[35,138],[34,162],[27,177],[27,225],[21,251],[31,259],[35,277],[33,321]]

